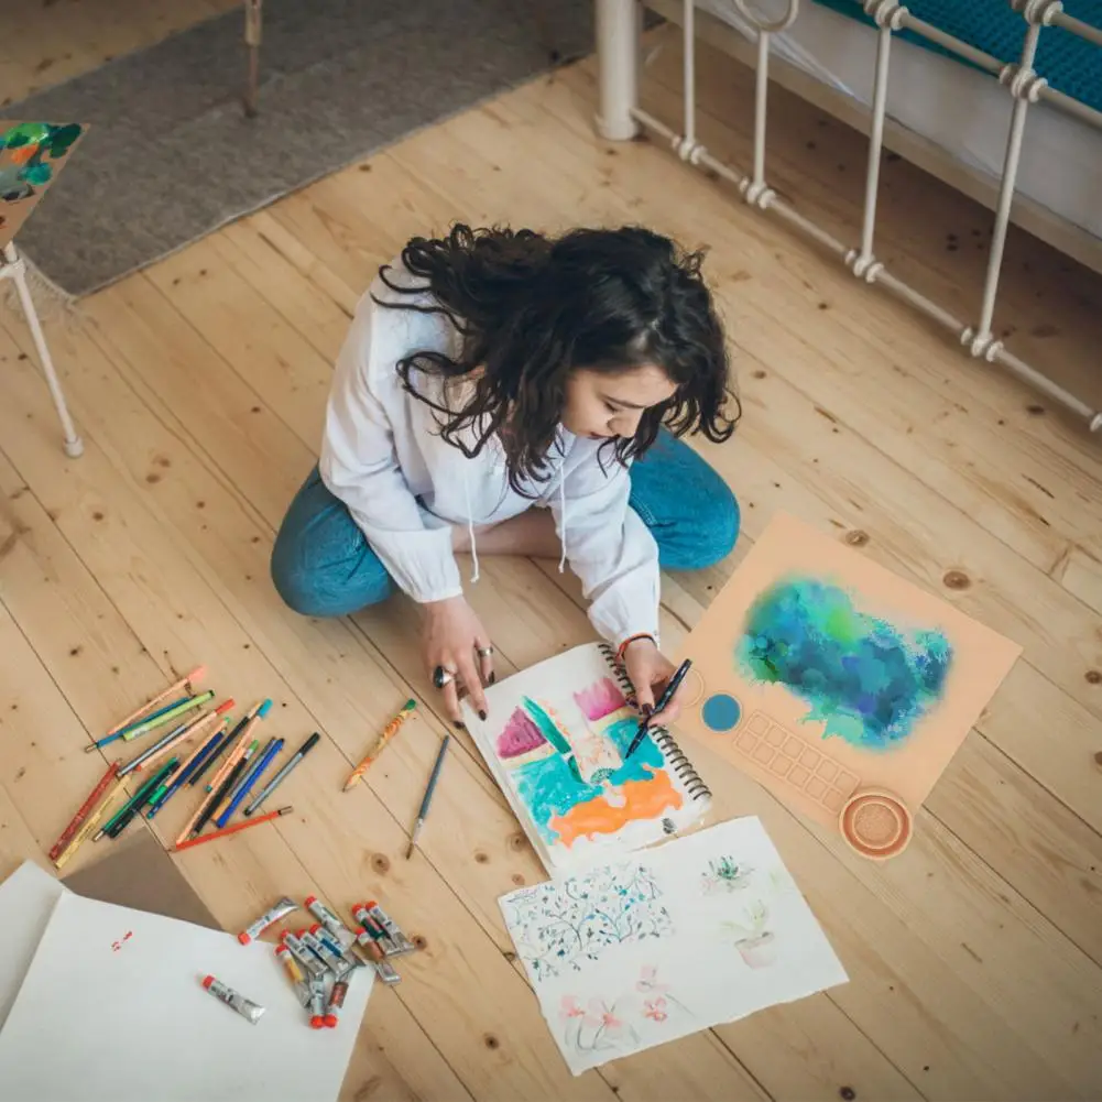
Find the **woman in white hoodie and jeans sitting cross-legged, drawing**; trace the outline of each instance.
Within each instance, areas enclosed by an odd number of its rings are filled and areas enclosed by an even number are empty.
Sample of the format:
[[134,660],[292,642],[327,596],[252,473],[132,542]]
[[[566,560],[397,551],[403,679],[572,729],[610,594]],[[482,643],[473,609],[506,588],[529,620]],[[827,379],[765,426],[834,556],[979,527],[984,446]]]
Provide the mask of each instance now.
[[659,565],[709,566],[738,532],[724,482],[676,439],[731,435],[727,371],[700,256],[658,234],[413,238],[357,309],[321,463],[276,540],[276,586],[307,616],[404,591],[462,726],[463,692],[485,717],[494,648],[455,553],[472,555],[472,583],[479,555],[557,558],[649,715],[673,669]]

